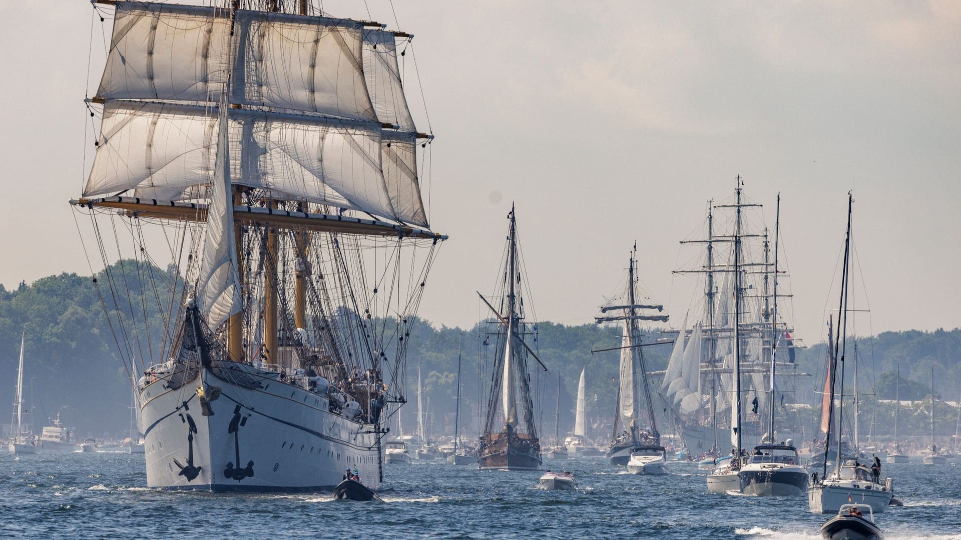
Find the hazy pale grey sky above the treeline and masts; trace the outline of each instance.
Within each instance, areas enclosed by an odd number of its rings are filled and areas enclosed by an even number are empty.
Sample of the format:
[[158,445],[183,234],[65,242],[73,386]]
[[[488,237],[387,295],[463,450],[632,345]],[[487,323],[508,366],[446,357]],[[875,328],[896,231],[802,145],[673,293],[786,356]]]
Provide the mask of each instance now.
[[[397,27],[388,3],[366,4]],[[363,6],[324,3],[337,16],[366,17]],[[484,314],[474,291],[493,287],[511,201],[540,319],[590,322],[637,239],[641,281],[679,324],[693,282],[671,274],[690,258],[678,240],[697,235],[707,199],[729,197],[740,174],[772,227],[781,193],[791,318],[808,343],[823,339],[836,302],[850,189],[870,330],[959,326],[961,3],[393,8],[416,36],[430,126],[409,55],[408,100],[437,137],[431,225],[451,235],[420,311],[434,324]],[[92,14],[82,0],[0,4],[8,288],[89,273],[66,201],[80,193],[85,154],[89,166],[82,100],[110,29],[92,21],[87,84]]]

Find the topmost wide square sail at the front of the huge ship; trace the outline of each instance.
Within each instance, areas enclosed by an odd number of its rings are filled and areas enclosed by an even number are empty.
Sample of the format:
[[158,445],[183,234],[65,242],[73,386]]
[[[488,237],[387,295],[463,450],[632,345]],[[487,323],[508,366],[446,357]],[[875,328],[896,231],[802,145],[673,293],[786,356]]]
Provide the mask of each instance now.
[[[97,97],[221,101],[376,120],[363,78],[358,21],[118,2]],[[235,59],[235,61],[231,61]]]

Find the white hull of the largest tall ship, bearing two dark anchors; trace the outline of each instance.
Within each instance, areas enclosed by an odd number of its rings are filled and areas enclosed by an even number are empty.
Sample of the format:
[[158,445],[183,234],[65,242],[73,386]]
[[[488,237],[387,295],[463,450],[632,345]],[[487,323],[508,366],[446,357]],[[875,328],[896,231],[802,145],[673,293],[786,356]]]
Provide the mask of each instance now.
[[[147,485],[210,491],[301,491],[333,488],[347,468],[380,485],[373,426],[328,410],[325,397],[271,379],[250,384],[257,370],[235,364],[231,380],[194,370],[191,380],[167,387],[148,384],[140,393]],[[269,374],[260,374],[260,377]],[[174,384],[171,384],[174,385]],[[209,414],[197,388],[211,396]]]

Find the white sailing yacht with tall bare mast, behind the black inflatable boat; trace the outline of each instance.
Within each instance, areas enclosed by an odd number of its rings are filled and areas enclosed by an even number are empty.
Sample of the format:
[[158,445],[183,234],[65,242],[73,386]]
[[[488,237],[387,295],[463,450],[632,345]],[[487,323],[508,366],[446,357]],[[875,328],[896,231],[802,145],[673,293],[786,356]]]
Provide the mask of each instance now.
[[[845,375],[845,354],[848,342],[848,297],[850,290],[850,251],[851,251],[851,209],[854,203],[853,197],[848,195],[848,232],[845,236],[844,266],[841,273],[841,294],[838,305],[838,328],[833,341],[828,342],[828,346],[833,346],[831,355],[832,361],[829,362],[829,373],[827,375],[828,393],[826,397],[827,415],[826,422],[823,419],[825,429],[825,451],[831,448],[831,437],[837,439],[834,470],[827,472],[827,462],[822,466],[820,479],[816,479],[816,473],[812,475],[811,483],[807,487],[808,508],[812,512],[835,513],[845,503],[867,504],[875,512],[883,512],[888,504],[891,503],[893,496],[892,489],[894,482],[892,479],[885,479],[881,482],[880,471],[875,474],[870,468],[859,463],[857,459],[845,459],[841,449],[841,436],[843,426],[842,419],[844,413],[844,375]],[[829,327],[828,327],[829,328]],[[840,373],[835,377],[834,370]],[[835,385],[836,384],[836,385]],[[835,394],[835,388],[838,389]],[[837,395],[837,412],[834,410],[834,398]],[[836,421],[836,427],[832,430],[831,424]]]

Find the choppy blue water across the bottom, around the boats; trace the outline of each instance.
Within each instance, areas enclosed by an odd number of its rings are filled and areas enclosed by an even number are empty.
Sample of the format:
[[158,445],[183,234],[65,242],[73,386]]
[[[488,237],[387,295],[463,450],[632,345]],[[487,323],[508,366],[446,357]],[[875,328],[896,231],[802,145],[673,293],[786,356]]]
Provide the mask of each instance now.
[[[575,492],[534,489],[536,472],[385,465],[384,503],[354,503],[156,491],[143,456],[0,454],[0,537],[820,538],[826,517],[803,498],[709,495],[706,472],[669,465],[670,475],[636,477],[603,458],[548,463],[576,475]],[[875,516],[888,540],[961,540],[961,467],[883,472],[905,503]]]

